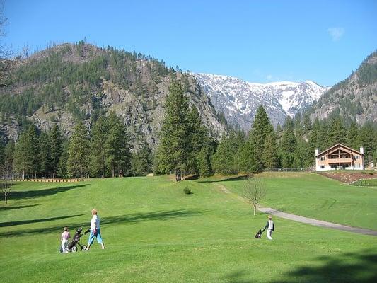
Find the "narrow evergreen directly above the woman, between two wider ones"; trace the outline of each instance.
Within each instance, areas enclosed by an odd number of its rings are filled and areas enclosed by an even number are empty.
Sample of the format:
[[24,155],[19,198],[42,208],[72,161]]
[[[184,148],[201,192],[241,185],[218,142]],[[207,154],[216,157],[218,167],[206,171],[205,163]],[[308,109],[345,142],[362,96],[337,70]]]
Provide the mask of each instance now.
[[106,142],[108,136],[108,123],[105,117],[100,116],[91,128],[91,155],[90,167],[94,176],[105,178],[106,174]]

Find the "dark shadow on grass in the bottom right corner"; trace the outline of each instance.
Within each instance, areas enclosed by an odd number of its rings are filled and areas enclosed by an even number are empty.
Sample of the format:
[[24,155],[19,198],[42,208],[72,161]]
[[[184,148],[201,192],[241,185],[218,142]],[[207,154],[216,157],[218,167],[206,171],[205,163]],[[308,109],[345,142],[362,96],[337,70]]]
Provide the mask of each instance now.
[[[251,283],[253,274],[245,271],[232,272],[227,282]],[[377,253],[364,250],[360,253],[315,258],[312,265],[301,265],[285,272],[282,277],[269,283],[328,282],[328,283],[374,283],[377,282]]]

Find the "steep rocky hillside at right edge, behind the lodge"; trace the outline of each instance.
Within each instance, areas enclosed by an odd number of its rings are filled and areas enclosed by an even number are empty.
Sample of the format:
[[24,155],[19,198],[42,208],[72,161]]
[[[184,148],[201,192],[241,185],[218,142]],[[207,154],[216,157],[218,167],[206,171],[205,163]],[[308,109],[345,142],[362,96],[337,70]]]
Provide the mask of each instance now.
[[320,120],[341,115],[364,124],[377,122],[377,51],[373,52],[347,79],[332,86],[309,110]]

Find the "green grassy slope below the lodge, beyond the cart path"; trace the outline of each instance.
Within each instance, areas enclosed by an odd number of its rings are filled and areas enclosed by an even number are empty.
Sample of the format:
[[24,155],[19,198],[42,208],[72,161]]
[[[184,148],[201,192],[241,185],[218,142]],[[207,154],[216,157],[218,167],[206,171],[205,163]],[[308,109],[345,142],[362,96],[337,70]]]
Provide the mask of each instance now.
[[[263,173],[262,204],[284,212],[377,230],[377,189],[342,184],[315,173]],[[214,180],[214,179],[212,179]],[[221,182],[242,195],[242,181]]]

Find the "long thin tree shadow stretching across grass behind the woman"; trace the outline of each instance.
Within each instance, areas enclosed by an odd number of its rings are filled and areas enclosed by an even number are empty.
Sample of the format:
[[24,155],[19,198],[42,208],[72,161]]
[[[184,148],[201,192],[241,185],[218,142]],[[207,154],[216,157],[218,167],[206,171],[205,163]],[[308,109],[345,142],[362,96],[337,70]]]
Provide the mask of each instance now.
[[[115,223],[124,223],[124,224],[134,224],[139,223],[141,221],[154,221],[154,220],[168,220],[168,219],[174,219],[178,217],[190,217],[195,216],[197,214],[205,213],[204,210],[188,210],[188,209],[182,209],[182,210],[170,210],[165,212],[147,212],[147,213],[135,213],[135,214],[125,214],[125,215],[119,215],[119,216],[110,216],[110,217],[104,217],[101,219],[100,224],[115,224]],[[75,215],[75,216],[81,216],[83,214]],[[69,216],[74,217],[74,216]],[[64,219],[68,218],[67,216],[64,217],[54,217],[51,219],[46,219],[46,221],[52,221],[57,219]],[[0,233],[0,237],[8,237],[8,236],[23,236],[27,234],[33,234],[33,233],[52,233],[52,232],[59,232],[62,231],[63,226],[67,226],[70,229],[76,229],[83,226],[88,225],[90,222],[90,215],[88,216],[88,221],[86,223],[83,222],[71,222],[71,223],[64,223],[59,226],[50,226],[50,227],[43,227],[43,228],[37,228],[37,229],[22,229],[22,230],[16,230],[16,231],[7,231],[4,233]],[[19,221],[21,222],[21,221]],[[35,221],[37,222],[37,221]],[[41,221],[43,222],[43,221]],[[11,223],[11,222],[8,222]],[[14,222],[13,222],[14,223]],[[20,225],[20,224],[16,224]],[[9,225],[10,226],[10,225]]]

